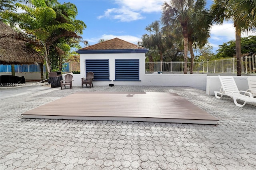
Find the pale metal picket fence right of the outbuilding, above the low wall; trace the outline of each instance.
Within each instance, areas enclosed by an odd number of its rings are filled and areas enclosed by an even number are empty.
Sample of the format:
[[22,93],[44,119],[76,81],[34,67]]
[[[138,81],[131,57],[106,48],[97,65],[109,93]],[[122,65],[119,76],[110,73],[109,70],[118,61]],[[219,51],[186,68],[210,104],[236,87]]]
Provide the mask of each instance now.
[[[256,55],[242,57],[242,73],[256,74]],[[162,67],[161,67],[162,66]],[[183,72],[184,62],[146,62],[146,71]],[[190,71],[190,62],[188,62]],[[194,62],[193,72],[202,73],[236,73],[236,58]]]

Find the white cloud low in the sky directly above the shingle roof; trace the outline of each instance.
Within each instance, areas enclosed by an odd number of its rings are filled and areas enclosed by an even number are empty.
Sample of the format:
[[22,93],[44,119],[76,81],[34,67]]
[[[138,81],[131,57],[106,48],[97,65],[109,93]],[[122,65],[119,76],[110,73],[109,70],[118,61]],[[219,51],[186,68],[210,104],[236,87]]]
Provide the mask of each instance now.
[[113,39],[113,38],[120,38],[121,40],[130,42],[130,43],[134,43],[134,44],[137,44],[137,42],[141,40],[140,37],[130,36],[130,35],[115,36],[115,35],[112,35],[112,34],[108,34],[108,35],[107,35],[107,34],[103,34],[103,35],[100,36],[99,38],[91,38],[91,39],[88,39],[88,42],[89,42],[90,45],[92,45],[92,44],[98,43],[98,41],[99,41],[100,39],[111,40],[111,39]]

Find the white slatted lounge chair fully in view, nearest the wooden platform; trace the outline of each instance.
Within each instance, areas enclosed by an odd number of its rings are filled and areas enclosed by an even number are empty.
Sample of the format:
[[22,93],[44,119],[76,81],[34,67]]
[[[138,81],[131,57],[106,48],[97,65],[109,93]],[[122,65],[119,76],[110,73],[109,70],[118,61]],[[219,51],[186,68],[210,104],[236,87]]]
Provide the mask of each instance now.
[[[248,91],[238,91],[236,82],[234,81],[234,78],[232,76],[219,75],[219,79],[221,83],[221,88],[220,88],[220,92],[214,91],[216,98],[220,99],[224,95],[229,96],[234,99],[234,103],[238,107],[243,107],[246,104],[246,102],[256,103],[256,98],[252,97],[252,93]],[[244,94],[241,94],[241,92]],[[247,96],[246,94],[248,94],[249,96]],[[244,104],[243,105],[238,104],[237,99],[244,101]]]

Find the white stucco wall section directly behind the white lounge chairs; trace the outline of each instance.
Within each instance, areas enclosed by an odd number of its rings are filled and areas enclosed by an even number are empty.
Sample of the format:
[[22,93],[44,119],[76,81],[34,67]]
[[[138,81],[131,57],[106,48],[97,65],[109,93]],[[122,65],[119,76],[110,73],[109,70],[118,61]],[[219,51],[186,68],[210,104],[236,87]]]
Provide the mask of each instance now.
[[[249,89],[246,76],[233,76],[238,90],[246,91]],[[214,91],[220,91],[221,84],[218,76],[207,76],[206,94],[214,95]]]

